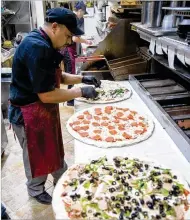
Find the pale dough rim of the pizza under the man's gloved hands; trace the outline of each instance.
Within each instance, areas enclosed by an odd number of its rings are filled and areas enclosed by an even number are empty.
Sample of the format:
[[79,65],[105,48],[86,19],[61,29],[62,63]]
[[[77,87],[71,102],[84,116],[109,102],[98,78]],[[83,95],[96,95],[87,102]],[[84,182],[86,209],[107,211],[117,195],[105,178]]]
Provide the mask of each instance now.
[[[114,82],[114,81],[101,80],[101,82],[102,82],[102,84],[109,82],[112,85],[114,84],[114,86],[121,87],[121,88],[124,87],[124,86],[121,86],[119,83]],[[75,85],[75,87],[81,87],[81,86],[87,86],[87,85],[86,84]],[[83,97],[76,98],[75,100],[80,101],[80,102],[86,102],[86,103],[89,103],[89,104],[105,104],[105,103],[120,102],[120,101],[124,101],[126,99],[129,99],[132,95],[131,89],[129,89],[129,88],[126,88],[126,89],[128,89],[128,92],[124,93],[123,97],[117,97],[113,100],[101,100],[101,99],[100,100],[92,100],[92,99],[86,99],[86,98],[83,98]]]

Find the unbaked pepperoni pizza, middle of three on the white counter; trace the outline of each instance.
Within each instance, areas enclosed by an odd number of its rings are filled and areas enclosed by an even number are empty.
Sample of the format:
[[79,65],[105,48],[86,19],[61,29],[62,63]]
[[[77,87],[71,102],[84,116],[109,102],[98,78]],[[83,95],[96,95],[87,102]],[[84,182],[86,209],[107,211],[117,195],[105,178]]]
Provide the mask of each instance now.
[[76,139],[97,147],[122,147],[147,139],[153,132],[150,118],[129,108],[103,106],[77,112],[67,122]]

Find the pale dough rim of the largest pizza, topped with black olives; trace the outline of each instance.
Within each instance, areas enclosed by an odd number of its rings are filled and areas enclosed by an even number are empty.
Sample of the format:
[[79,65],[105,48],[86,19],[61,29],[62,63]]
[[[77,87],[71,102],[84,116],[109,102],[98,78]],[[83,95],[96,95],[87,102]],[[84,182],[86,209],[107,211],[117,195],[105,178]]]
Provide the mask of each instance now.
[[[97,158],[94,158],[95,160]],[[109,160],[113,160],[113,157],[107,157],[108,161]],[[132,158],[130,157],[130,159],[136,159],[136,158]],[[159,163],[155,162],[155,161],[151,161],[149,158],[144,158],[144,160],[142,158],[138,158],[139,160],[141,160],[143,163],[147,163],[151,166],[158,166],[160,168],[164,168],[164,169],[167,169],[165,166],[163,165],[160,165]],[[90,163],[90,161],[89,161]],[[63,203],[63,200],[62,200],[62,193],[63,193],[63,185],[62,183],[65,181],[65,179],[67,179],[68,177],[68,174],[70,172],[72,172],[72,169],[76,168],[77,166],[80,166],[80,165],[85,165],[85,164],[74,164],[72,165],[62,176],[61,178],[59,179],[58,183],[56,184],[56,187],[54,189],[54,192],[53,192],[53,197],[52,197],[52,207],[53,207],[53,211],[54,211],[54,214],[55,214],[55,218],[56,219],[70,219],[68,217],[68,214],[65,210],[65,207],[64,207],[64,203]],[[172,170],[172,174],[174,175],[177,175],[178,177],[178,182],[180,182],[181,184],[184,185],[184,187],[190,191],[190,188],[189,188],[189,185],[187,183],[187,181],[185,180],[185,178],[183,176],[181,176],[179,174],[179,172],[177,171],[173,171]],[[188,202],[190,204],[190,196],[188,197]],[[183,219],[190,219],[190,209],[188,211],[185,211],[184,210],[184,218]]]

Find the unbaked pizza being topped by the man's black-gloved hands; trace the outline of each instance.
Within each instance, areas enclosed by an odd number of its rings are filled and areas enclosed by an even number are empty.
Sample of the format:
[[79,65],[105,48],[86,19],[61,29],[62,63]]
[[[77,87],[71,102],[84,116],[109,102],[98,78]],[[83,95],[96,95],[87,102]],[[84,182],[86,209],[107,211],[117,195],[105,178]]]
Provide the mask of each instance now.
[[[86,86],[85,84],[75,85],[77,87]],[[131,96],[131,90],[126,88],[126,86],[122,86],[120,83],[109,81],[109,80],[101,80],[100,88],[96,88],[98,96],[95,99],[86,99],[83,97],[77,98],[78,101],[83,101],[87,103],[112,103],[123,101],[128,99]]]

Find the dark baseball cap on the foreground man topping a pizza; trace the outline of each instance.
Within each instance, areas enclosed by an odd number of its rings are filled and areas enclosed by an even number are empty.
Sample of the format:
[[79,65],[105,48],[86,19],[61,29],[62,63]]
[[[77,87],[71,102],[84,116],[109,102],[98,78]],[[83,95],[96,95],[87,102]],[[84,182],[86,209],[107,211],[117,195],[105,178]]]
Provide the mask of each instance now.
[[65,25],[68,30],[75,36],[83,35],[84,32],[77,27],[76,15],[67,8],[52,8],[46,12],[46,22]]

